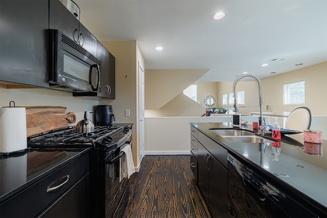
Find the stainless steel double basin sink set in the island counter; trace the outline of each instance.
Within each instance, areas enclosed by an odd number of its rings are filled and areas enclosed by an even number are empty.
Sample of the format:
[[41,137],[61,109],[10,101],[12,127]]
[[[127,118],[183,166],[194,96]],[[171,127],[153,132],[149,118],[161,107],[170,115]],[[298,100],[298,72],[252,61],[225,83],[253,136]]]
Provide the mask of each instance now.
[[256,135],[243,129],[209,129],[211,132],[232,142],[265,143],[273,140]]

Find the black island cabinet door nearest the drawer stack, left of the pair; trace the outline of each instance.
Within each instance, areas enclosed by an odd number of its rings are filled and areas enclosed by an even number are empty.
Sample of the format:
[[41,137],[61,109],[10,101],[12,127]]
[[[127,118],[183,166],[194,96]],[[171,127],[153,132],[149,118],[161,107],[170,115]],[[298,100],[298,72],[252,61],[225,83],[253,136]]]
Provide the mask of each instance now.
[[198,186],[207,205],[209,205],[209,171],[207,168],[208,157],[208,151],[202,146],[201,143],[198,143]]

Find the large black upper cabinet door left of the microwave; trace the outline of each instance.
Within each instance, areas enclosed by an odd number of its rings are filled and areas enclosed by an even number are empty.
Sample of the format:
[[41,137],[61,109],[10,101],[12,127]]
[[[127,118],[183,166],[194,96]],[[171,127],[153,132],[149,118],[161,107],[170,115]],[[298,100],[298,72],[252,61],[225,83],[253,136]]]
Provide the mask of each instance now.
[[0,1],[0,81],[49,87],[48,1]]

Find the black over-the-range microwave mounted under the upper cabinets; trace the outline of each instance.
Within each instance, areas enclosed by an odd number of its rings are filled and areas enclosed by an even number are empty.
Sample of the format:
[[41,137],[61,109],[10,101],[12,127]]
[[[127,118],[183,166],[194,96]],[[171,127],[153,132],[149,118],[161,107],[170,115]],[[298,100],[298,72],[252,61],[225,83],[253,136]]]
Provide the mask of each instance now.
[[50,30],[49,88],[99,92],[101,61],[58,30]]

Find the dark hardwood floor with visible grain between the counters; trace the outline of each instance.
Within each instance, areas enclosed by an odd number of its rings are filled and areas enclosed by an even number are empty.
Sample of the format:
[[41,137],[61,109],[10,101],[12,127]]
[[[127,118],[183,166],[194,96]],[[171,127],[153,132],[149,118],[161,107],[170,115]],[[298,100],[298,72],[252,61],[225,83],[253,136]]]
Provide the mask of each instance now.
[[211,217],[196,185],[189,155],[145,156],[130,178],[124,217]]

